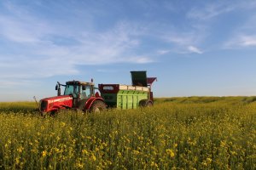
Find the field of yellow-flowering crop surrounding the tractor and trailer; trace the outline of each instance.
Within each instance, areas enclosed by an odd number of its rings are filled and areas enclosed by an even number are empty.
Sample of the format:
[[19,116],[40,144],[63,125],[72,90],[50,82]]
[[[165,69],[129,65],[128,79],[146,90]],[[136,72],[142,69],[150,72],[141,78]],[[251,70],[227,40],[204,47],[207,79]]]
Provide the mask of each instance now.
[[32,103],[2,103],[0,168],[255,169],[254,101],[156,99],[153,108],[46,118]]

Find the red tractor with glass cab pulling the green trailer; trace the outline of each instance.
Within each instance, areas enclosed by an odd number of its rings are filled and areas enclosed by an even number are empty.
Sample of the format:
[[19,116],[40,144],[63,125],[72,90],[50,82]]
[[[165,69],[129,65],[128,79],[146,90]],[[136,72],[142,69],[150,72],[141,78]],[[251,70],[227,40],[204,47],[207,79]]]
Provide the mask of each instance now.
[[[61,95],[61,86],[65,87],[64,94]],[[82,111],[102,111],[106,105],[102,97],[95,93],[94,83],[70,81],[66,85],[57,83],[55,89],[58,96],[41,99],[39,111],[42,115],[54,115],[63,109],[75,109]]]

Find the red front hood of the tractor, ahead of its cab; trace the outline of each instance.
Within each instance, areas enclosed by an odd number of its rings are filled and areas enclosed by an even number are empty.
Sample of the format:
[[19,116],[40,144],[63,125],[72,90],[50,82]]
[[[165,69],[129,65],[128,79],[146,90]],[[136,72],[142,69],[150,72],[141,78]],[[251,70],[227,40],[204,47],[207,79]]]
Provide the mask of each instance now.
[[39,110],[41,112],[57,111],[63,108],[71,108],[72,106],[73,97],[70,95],[45,98],[39,102]]

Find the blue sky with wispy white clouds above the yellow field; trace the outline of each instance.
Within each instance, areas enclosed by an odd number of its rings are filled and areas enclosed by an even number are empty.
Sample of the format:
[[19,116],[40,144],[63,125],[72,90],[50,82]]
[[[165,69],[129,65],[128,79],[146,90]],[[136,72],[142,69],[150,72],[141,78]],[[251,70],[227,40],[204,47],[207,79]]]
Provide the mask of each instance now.
[[255,0],[3,0],[0,101],[54,96],[69,80],[156,97],[256,95]]

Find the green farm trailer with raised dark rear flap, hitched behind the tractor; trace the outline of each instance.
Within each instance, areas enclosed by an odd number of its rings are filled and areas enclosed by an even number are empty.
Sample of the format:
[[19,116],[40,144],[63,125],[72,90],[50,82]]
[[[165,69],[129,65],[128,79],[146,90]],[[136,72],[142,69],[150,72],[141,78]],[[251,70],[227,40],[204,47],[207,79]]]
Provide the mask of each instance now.
[[146,71],[131,71],[132,85],[99,84],[102,99],[108,107],[136,109],[154,103],[151,85],[155,77],[147,77]]

